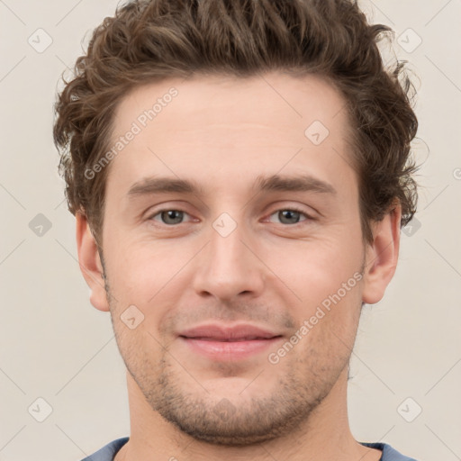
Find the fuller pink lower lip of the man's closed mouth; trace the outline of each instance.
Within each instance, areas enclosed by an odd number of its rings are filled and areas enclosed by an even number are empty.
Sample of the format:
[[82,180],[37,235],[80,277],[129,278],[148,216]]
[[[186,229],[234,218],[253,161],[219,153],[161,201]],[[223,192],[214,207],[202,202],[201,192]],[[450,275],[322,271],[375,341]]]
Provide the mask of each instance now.
[[206,339],[183,338],[185,343],[205,357],[213,360],[240,360],[274,347],[281,337],[271,339],[251,339],[245,341],[217,341]]

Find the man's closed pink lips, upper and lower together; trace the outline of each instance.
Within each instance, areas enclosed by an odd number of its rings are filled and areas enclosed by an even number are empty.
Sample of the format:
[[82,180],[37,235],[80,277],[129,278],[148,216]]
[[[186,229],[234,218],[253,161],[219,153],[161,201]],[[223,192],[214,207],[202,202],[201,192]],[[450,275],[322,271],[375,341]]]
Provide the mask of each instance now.
[[227,361],[242,360],[267,351],[283,335],[249,324],[232,327],[208,324],[182,331],[178,338],[194,354]]

